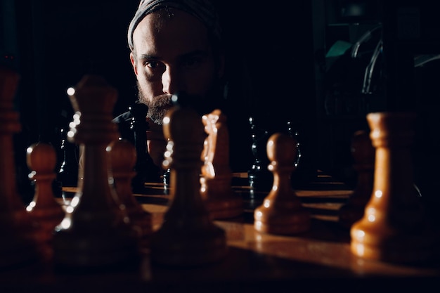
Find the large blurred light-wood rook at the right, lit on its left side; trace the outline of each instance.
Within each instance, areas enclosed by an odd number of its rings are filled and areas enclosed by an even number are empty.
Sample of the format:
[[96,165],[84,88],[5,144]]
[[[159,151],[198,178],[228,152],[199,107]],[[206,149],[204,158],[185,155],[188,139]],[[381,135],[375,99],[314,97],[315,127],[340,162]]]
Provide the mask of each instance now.
[[422,263],[436,259],[433,233],[413,187],[415,114],[367,115],[375,148],[373,192],[363,218],[351,226],[351,252],[364,259]]

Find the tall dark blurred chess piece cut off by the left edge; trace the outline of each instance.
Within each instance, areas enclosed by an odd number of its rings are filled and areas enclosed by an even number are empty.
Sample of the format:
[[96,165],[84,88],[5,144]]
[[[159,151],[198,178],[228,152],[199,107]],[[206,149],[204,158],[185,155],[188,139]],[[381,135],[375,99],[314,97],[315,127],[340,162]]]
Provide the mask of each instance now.
[[0,269],[39,260],[37,223],[17,191],[13,134],[21,129],[13,98],[19,76],[0,67]]

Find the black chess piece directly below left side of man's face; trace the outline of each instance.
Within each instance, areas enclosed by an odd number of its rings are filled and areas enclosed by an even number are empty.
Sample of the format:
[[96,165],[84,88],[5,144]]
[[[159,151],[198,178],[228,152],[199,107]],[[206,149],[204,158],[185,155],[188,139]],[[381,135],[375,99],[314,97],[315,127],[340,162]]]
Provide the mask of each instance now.
[[142,103],[131,105],[130,112],[133,115],[131,119],[131,130],[134,134],[134,147],[137,152],[136,165],[134,167],[136,175],[131,180],[134,192],[142,193],[145,188],[145,182],[160,182],[160,168],[153,163],[147,149],[147,130],[149,129],[146,120],[148,107]]

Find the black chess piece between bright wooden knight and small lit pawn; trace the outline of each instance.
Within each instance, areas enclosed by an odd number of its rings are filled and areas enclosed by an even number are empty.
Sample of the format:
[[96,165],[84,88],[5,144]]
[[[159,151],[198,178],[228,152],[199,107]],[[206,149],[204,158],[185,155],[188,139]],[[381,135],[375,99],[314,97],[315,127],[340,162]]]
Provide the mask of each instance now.
[[268,158],[266,155],[266,143],[270,134],[260,127],[255,122],[254,117],[250,117],[249,123],[252,132],[252,155],[254,156],[254,162],[250,170],[247,171],[247,177],[249,178],[249,185],[255,190],[271,190],[271,183],[273,176],[266,168],[268,165]]

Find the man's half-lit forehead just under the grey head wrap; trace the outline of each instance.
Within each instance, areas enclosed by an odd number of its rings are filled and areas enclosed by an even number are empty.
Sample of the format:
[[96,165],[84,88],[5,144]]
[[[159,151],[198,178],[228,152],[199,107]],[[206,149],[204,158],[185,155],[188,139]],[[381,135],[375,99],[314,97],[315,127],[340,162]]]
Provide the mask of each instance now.
[[172,58],[191,51],[207,50],[207,28],[186,12],[161,10],[146,15],[139,22],[133,42],[138,55]]

